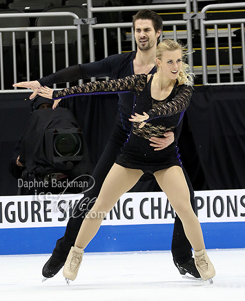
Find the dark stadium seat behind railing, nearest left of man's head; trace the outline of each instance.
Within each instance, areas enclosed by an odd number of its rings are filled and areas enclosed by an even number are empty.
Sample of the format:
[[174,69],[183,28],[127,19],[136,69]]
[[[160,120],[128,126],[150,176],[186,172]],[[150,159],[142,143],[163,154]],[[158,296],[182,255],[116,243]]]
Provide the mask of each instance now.
[[[82,7],[55,7],[45,10],[45,12],[71,12],[76,14],[79,18],[87,18],[87,10]],[[73,25],[74,18],[67,17],[39,17],[36,20],[36,26],[64,26]],[[83,62],[88,61],[89,47],[84,36],[88,35],[88,28],[86,25],[81,26],[82,32],[82,52]],[[53,72],[52,69],[52,36],[50,31],[42,32],[42,51],[44,69],[43,75],[49,75]],[[69,52],[69,65],[77,64],[77,32],[75,30],[68,30],[68,52]],[[65,34],[63,30],[55,31],[55,54],[56,54],[56,70],[65,68]],[[39,38],[36,36],[31,42],[31,66],[33,78],[40,77],[39,69]]]

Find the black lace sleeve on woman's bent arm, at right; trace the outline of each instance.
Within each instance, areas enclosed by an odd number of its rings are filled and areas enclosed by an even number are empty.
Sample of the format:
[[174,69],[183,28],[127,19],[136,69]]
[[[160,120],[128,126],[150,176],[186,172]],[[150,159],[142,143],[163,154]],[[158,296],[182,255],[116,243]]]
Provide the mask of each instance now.
[[171,116],[185,111],[190,103],[192,88],[187,85],[180,85],[177,87],[176,92],[177,94],[173,100],[164,104],[159,104],[159,107],[147,112],[150,118],[147,119],[146,122],[159,116]]

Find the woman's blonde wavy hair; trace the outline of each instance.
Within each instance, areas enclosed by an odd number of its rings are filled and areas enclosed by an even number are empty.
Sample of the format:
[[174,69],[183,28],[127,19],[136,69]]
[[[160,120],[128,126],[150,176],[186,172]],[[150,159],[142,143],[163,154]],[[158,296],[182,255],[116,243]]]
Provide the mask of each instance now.
[[[190,66],[185,63],[185,59],[187,57],[187,51],[184,49],[185,49],[185,47],[181,43],[174,41],[174,40],[166,39],[166,40],[163,40],[163,42],[158,44],[156,57],[159,60],[161,60],[164,51],[181,50],[182,67],[181,67],[181,70],[180,70],[180,73],[179,73],[179,76],[177,79],[178,79],[178,82],[180,85],[185,84],[185,83],[192,85],[193,80],[192,80],[191,75],[193,75],[193,73],[190,73],[190,72],[187,73],[187,71],[190,69]],[[157,68],[159,69],[159,67],[157,67]]]

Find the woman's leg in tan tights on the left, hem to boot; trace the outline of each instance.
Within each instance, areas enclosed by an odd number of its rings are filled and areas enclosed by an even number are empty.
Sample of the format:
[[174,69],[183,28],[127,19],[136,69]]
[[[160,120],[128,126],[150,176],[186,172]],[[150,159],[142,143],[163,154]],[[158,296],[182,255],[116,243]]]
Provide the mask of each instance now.
[[101,187],[98,199],[87,214],[77,235],[75,246],[85,248],[97,233],[105,215],[119,198],[129,191],[143,175],[141,170],[114,164]]

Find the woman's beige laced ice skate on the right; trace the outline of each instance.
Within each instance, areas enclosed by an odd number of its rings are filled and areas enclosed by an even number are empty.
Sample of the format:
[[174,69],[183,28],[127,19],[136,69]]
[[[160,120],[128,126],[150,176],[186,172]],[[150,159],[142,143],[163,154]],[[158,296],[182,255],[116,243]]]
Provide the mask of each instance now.
[[210,283],[213,283],[211,278],[215,276],[215,269],[205,249],[195,251],[195,265],[202,279],[208,279]]

